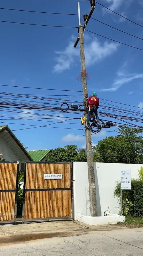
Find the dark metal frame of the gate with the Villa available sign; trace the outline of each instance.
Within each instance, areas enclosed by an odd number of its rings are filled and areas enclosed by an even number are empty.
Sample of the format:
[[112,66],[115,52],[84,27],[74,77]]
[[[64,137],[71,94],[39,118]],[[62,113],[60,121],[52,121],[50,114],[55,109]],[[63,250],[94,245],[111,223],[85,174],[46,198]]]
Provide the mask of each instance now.
[[[23,184],[23,208],[22,208],[22,223],[25,222],[38,222],[38,221],[52,221],[52,220],[73,220],[74,219],[74,195],[73,195],[73,162],[41,162],[41,164],[70,164],[71,168],[71,216],[70,217],[50,217],[50,218],[38,218],[38,219],[24,219],[25,215],[25,193],[26,191],[34,191],[35,189],[26,189],[26,164],[40,164],[40,162],[24,162],[24,184]],[[59,190],[56,189],[36,189],[36,191],[50,191],[50,190]],[[62,189],[61,189],[62,190]]]

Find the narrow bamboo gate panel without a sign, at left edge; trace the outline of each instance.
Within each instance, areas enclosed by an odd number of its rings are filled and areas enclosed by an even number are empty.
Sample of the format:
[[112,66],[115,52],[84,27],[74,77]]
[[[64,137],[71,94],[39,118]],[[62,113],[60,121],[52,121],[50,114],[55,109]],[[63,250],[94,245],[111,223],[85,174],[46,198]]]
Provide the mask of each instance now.
[[18,162],[0,163],[0,223],[16,222]]

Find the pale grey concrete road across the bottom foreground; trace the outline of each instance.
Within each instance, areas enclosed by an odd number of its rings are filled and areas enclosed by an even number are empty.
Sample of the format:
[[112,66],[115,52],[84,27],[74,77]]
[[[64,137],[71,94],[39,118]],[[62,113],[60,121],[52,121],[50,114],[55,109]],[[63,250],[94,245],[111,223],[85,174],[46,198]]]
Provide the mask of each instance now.
[[142,256],[143,228],[92,231],[0,246],[1,256]]

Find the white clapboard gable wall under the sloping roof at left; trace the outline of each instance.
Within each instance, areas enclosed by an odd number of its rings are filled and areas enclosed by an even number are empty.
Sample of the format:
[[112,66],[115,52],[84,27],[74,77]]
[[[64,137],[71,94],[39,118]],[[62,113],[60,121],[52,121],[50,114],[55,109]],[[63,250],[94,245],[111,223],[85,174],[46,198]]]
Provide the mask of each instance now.
[[5,161],[19,161],[15,153],[10,149],[10,147],[5,143],[5,141],[0,136],[0,153],[3,154]]

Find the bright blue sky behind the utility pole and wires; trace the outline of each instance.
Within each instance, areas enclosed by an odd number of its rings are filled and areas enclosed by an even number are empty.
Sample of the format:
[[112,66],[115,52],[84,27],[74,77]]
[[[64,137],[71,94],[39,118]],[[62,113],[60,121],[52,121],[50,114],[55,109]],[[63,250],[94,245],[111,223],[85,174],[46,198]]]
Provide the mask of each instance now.
[[[143,2],[141,0],[99,0],[99,3],[143,25]],[[5,0],[1,1],[0,8],[78,14],[78,1]],[[81,14],[88,14],[90,9],[90,1],[80,1]],[[78,27],[78,16],[76,15],[40,14],[2,9],[0,9],[0,15],[1,21]],[[143,28],[141,26],[123,19],[101,5],[96,4],[92,17],[143,38]],[[84,24],[83,16],[81,16],[81,23]],[[141,39],[116,31],[93,19],[90,19],[87,29],[143,49]],[[79,44],[76,48],[73,47],[78,36],[77,28],[44,27],[0,22],[0,34],[1,85],[82,91],[82,83],[77,80],[78,75],[81,73]],[[84,46],[86,71],[91,75],[87,81],[88,95],[90,96],[93,92],[96,92],[99,98],[104,99],[100,100],[100,105],[104,103],[105,108],[106,103],[107,105],[109,104],[105,100],[143,108],[142,50],[121,45],[88,31],[84,32]],[[56,112],[54,109],[53,111],[45,109],[48,106],[47,103],[49,103],[50,107],[59,107],[62,102],[67,100],[69,100],[69,102],[67,101],[69,105],[72,102],[80,105],[82,104],[82,92],[0,86],[0,93],[31,95],[28,99],[17,97],[16,100],[14,100],[15,96],[11,96],[11,99],[9,96],[9,100],[22,102],[25,105],[28,102],[27,100],[31,100],[29,103],[33,101],[32,104],[34,104],[34,101],[35,103],[38,101],[33,99],[35,97],[33,95],[43,97],[40,100],[41,110],[32,108],[16,109],[16,103],[12,112],[10,108],[1,108],[0,110],[1,125],[8,124],[15,136],[25,146],[28,146],[29,150],[54,149],[58,146],[63,147],[69,144],[76,144],[78,147],[85,146],[84,128],[80,124],[82,113],[74,111],[63,113],[62,111]],[[3,94],[0,96],[1,102],[8,100],[6,99],[8,96],[3,96]],[[59,105],[56,105],[53,101],[47,101],[47,98],[53,98],[53,100],[60,98],[61,100],[59,100]],[[121,107],[118,104],[114,105]],[[133,107],[128,108],[135,109]],[[103,108],[99,107],[98,110],[103,111]],[[138,108],[135,110],[142,111],[142,109]],[[79,119],[67,120],[66,117]],[[105,117],[102,118],[108,120]],[[109,120],[114,121],[112,118]],[[49,122],[47,123],[47,121]],[[53,125],[52,121],[62,121],[62,123]],[[49,124],[48,127],[32,128],[47,124]],[[138,123],[138,125],[141,124]],[[51,126],[57,128],[50,128]],[[32,129],[26,129],[30,127]],[[117,130],[117,128],[102,129],[101,132],[93,135],[93,145],[96,145],[99,140],[106,136],[116,135],[114,130]]]

